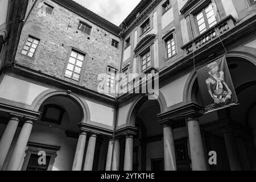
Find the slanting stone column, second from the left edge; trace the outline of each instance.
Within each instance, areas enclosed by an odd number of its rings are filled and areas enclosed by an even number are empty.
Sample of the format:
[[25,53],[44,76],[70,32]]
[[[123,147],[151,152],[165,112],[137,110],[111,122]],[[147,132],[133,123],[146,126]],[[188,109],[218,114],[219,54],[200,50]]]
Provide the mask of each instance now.
[[32,126],[34,122],[26,121],[20,131],[19,138],[15,144],[13,154],[7,166],[7,171],[18,171],[24,152],[27,147],[28,139],[30,138]]

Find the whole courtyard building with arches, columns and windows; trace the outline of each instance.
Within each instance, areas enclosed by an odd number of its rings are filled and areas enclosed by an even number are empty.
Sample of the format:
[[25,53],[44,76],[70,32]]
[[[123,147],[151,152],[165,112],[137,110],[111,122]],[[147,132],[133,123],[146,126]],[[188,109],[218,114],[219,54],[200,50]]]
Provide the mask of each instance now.
[[[142,0],[118,27],[71,0],[28,1],[0,75],[1,169],[255,170],[255,10]],[[196,69],[222,55],[240,105],[203,115]],[[104,73],[129,90],[159,75],[159,96],[99,93]]]

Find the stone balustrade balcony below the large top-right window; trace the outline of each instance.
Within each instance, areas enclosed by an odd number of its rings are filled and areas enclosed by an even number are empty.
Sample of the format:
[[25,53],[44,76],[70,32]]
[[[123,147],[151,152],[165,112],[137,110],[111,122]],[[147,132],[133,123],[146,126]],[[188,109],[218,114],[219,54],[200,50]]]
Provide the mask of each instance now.
[[232,15],[229,15],[225,19],[222,19],[220,22],[215,24],[214,27],[209,28],[206,32],[197,36],[195,39],[191,40],[181,48],[187,53],[187,55],[189,55],[193,52],[193,49],[196,51],[197,49],[200,49],[206,44],[212,42],[212,40],[218,38],[222,34],[225,34],[225,32],[236,26],[235,23],[236,20]]

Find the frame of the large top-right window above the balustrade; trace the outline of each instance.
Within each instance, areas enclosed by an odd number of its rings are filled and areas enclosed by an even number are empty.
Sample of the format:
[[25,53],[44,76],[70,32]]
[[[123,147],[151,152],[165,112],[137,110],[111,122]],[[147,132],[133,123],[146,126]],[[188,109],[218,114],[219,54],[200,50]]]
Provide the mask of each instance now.
[[[195,24],[195,28],[196,28],[196,35],[202,35],[204,34],[205,32],[207,32],[209,30],[209,28],[212,28],[212,27],[209,27],[209,23],[208,23],[208,18],[207,18],[207,15],[205,13],[205,9],[211,4],[213,6],[213,2],[212,1],[206,1],[207,3],[204,4],[204,6],[200,7],[200,9],[198,9],[197,11],[194,11],[192,13],[192,19],[193,19],[193,22]],[[203,18],[204,18],[204,23],[205,23],[205,28],[206,30],[204,32],[201,32],[200,33],[200,30],[199,30],[199,24],[197,22],[197,18],[196,16],[199,15],[200,13],[203,13]],[[216,19],[216,23],[217,24],[218,22],[220,22],[220,18],[217,14],[217,12],[214,11],[214,7],[213,7],[213,13],[214,13],[214,17]]]

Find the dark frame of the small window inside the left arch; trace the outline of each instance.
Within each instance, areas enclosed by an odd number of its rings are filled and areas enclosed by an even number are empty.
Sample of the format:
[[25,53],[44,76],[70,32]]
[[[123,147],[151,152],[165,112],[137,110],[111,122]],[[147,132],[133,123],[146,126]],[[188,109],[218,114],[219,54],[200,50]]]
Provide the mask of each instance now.
[[[59,118],[57,120],[46,117],[47,110],[49,108],[54,108],[54,109],[57,109],[57,110],[60,111],[60,115],[59,115]],[[63,109],[62,107],[60,107],[58,105],[55,105],[55,104],[47,104],[47,105],[43,106],[43,113],[42,113],[42,117],[41,117],[40,120],[43,121],[43,122],[49,122],[49,123],[53,123],[53,124],[56,124],[56,125],[61,125],[61,121],[63,119],[64,114],[65,114],[65,109]]]

